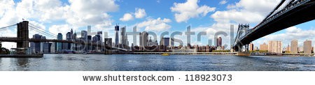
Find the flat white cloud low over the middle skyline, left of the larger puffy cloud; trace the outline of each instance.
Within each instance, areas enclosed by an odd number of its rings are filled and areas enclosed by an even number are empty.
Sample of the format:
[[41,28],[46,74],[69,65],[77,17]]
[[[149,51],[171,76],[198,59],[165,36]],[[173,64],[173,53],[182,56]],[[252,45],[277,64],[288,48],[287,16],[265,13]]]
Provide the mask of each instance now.
[[165,31],[167,29],[170,29],[172,26],[170,26],[169,22],[172,22],[171,20],[164,18],[161,19],[158,17],[158,19],[153,20],[153,19],[148,19],[145,22],[141,22],[137,24],[139,28],[146,27],[146,31]]

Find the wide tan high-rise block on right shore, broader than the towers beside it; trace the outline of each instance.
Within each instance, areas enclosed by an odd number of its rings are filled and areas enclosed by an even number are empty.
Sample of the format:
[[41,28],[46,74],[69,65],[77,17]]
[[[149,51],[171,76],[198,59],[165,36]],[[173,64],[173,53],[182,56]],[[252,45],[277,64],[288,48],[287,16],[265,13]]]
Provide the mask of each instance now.
[[282,41],[269,41],[268,52],[282,53]]

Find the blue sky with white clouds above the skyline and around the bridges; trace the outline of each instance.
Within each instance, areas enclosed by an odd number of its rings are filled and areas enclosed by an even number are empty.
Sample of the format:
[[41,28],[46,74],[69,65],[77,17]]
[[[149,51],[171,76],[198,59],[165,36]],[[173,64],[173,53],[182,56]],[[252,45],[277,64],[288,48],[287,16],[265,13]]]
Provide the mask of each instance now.
[[[28,20],[50,33],[63,33],[70,29],[80,32],[92,26],[92,31],[106,31],[110,38],[114,26],[127,26],[132,31],[153,31],[160,35],[169,31],[169,37],[176,31],[183,32],[175,38],[186,45],[186,27],[191,26],[195,35],[191,36],[193,45],[208,45],[218,31],[224,31],[223,45],[230,45],[230,25],[258,24],[279,3],[280,0],[0,0],[0,27],[9,26]],[[259,46],[268,40],[282,40],[288,45],[290,40],[297,39],[299,45],[304,40],[315,41],[315,21],[278,31],[253,41]],[[197,34],[205,31],[201,41]],[[37,33],[30,31],[29,37]],[[1,29],[0,36],[16,36],[16,28]],[[45,35],[44,35],[45,36]],[[235,36],[234,36],[235,37]],[[233,37],[233,38],[234,38]],[[47,36],[47,38],[50,38]],[[128,36],[130,44],[132,36]],[[137,37],[138,38],[138,37]],[[160,38],[158,38],[158,41]],[[178,44],[178,43],[177,43]],[[3,42],[4,47],[15,47],[15,43]]]

